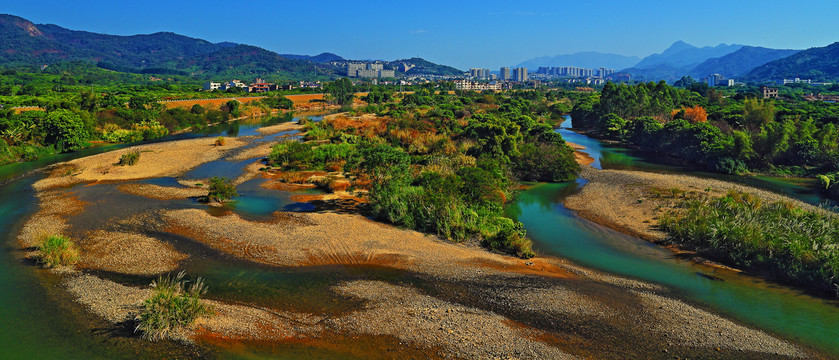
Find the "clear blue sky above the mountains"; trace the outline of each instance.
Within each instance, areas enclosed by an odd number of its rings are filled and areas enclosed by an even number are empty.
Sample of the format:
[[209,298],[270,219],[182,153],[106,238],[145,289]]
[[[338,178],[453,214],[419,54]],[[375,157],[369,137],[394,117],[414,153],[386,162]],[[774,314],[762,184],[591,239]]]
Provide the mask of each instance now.
[[677,40],[804,49],[839,41],[839,1],[5,1],[0,13],[115,35],[171,31],[279,53],[413,56],[460,69]]

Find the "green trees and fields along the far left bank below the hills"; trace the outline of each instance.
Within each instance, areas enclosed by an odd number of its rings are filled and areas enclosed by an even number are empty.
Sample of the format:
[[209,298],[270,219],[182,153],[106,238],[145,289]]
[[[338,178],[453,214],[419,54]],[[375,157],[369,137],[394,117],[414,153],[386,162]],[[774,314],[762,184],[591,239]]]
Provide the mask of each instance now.
[[[272,93],[260,101],[167,109],[160,100],[245,96],[201,92],[198,79],[124,74],[82,62],[0,70],[0,164],[71,152],[92,141],[131,143],[231,118],[289,109]],[[237,88],[238,89],[238,88]],[[12,107],[29,107],[18,113]]]

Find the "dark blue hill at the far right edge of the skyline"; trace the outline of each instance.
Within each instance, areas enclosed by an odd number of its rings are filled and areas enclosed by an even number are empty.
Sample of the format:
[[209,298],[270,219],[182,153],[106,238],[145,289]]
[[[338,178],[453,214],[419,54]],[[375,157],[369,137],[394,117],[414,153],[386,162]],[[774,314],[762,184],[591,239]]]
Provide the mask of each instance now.
[[810,48],[794,55],[768,62],[749,72],[745,78],[754,81],[792,78],[817,81],[839,80],[839,42]]

